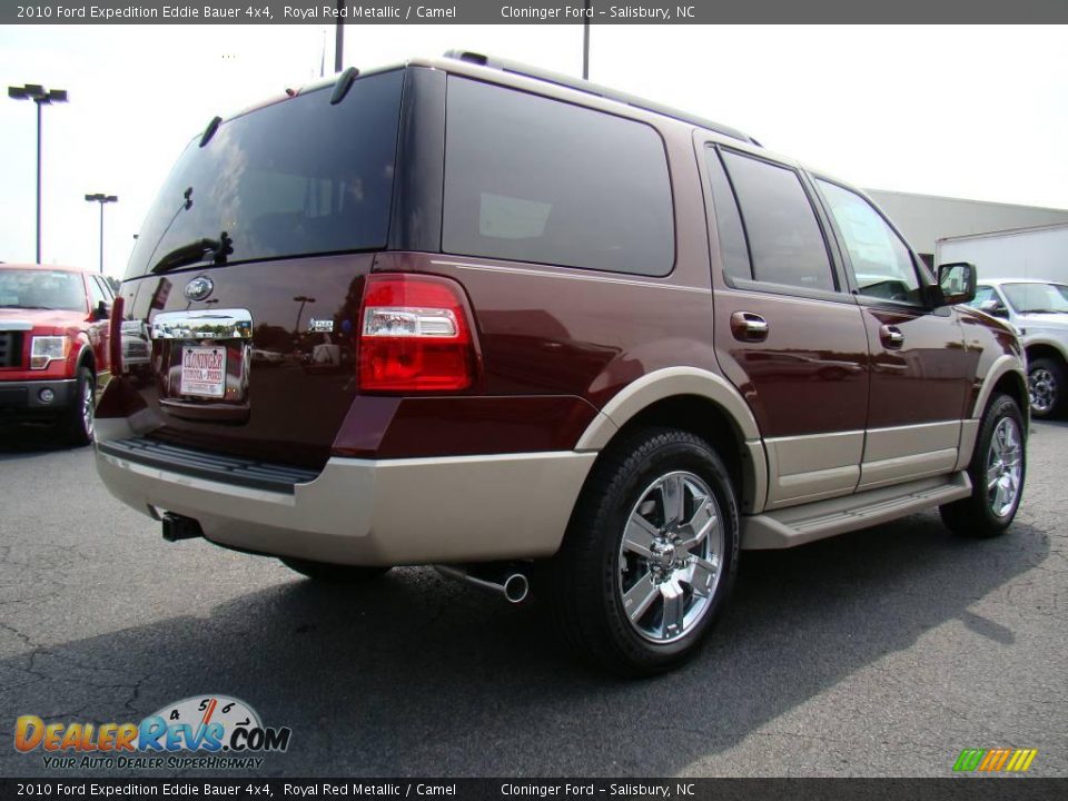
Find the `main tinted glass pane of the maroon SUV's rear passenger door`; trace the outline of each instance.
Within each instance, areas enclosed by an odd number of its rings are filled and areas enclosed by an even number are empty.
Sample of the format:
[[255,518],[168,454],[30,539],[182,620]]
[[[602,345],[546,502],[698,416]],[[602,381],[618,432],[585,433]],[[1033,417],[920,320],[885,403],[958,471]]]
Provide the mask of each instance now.
[[827,243],[798,174],[729,150],[723,162],[741,207],[753,278],[834,291]]

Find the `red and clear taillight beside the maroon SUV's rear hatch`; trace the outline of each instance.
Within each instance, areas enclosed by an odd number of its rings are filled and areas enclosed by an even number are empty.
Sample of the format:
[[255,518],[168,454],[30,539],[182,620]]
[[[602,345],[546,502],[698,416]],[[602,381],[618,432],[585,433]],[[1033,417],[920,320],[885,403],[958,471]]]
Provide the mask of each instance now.
[[360,392],[455,392],[475,380],[475,345],[459,285],[379,274],[359,310]]

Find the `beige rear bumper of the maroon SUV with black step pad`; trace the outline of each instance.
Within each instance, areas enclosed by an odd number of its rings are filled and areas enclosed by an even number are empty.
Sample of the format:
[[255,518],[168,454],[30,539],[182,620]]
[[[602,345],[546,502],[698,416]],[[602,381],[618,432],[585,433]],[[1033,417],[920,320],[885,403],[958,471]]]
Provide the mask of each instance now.
[[[99,421],[98,439],[129,436]],[[125,431],[118,431],[121,427]],[[212,481],[105,453],[108,491],[147,515],[200,523],[219,545],[337,564],[531,558],[556,552],[595,453],[332,458],[291,494]]]

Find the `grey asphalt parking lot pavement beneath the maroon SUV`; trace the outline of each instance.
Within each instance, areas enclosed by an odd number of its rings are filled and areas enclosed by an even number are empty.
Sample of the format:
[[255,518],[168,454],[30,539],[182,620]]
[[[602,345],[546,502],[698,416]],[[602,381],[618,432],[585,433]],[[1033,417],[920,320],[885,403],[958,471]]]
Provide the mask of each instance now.
[[622,682],[576,664],[536,602],[431,570],[317,586],[166,543],[89,448],[4,432],[0,775],[63,775],[16,752],[18,715],[138,722],[209,693],[291,728],[256,775],[946,777],[961,749],[1000,746],[1068,775],[1066,481],[1068,423],[1038,423],[1000,538],[927,513],[743,553],[703,654]]

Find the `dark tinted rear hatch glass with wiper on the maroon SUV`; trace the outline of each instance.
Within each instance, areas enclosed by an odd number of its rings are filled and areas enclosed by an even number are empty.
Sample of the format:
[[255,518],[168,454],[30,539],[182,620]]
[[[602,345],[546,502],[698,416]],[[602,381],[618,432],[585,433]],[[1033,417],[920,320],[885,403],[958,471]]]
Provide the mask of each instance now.
[[336,106],[330,87],[298,95],[224,122],[204,147],[197,135],[145,220],[127,278],[385,247],[403,78],[359,78]]

